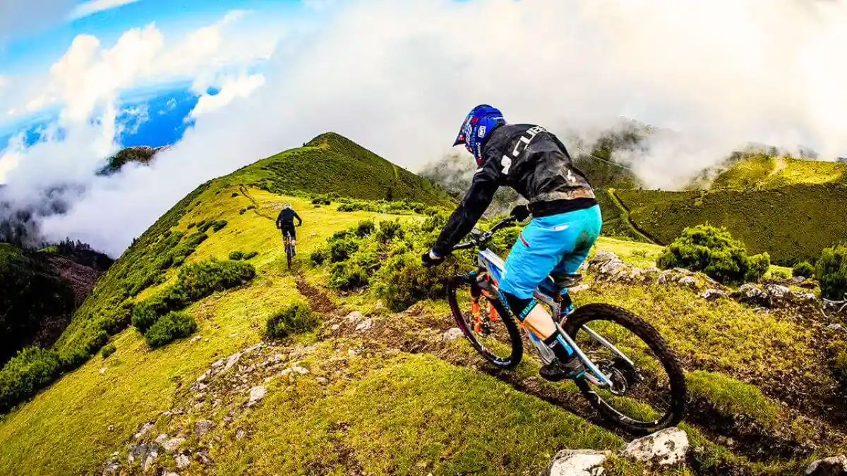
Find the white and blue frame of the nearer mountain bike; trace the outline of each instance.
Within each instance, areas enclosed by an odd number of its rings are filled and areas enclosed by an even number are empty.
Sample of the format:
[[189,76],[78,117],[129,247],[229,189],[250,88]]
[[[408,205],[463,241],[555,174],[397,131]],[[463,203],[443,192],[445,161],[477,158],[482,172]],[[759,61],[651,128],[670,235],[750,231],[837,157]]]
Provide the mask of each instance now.
[[[479,275],[481,273],[488,274],[492,284],[495,285],[495,287],[498,287],[498,283],[500,283],[500,280],[504,274],[504,263],[502,258],[497,256],[495,252],[492,252],[487,248],[479,249],[477,250],[477,263],[479,265],[479,269],[477,270],[475,275]],[[499,299],[498,296],[499,291],[498,294],[493,297],[495,299]],[[533,298],[535,301],[544,303],[549,306],[551,308],[552,316],[559,315],[561,308],[560,302],[555,297],[550,296],[545,291],[542,291],[540,287],[535,290]],[[585,364],[585,367],[588,368],[589,372],[585,373],[585,378],[589,379],[594,385],[598,385],[601,387],[612,387],[612,381],[606,376],[606,374],[603,374],[601,372],[600,368],[597,368],[595,363],[592,362],[588,356],[585,355],[582,349],[577,346],[577,343],[574,342],[573,339],[571,339],[571,336],[567,335],[567,333],[562,330],[562,326],[556,322],[556,318],[553,318],[553,322],[554,324],[556,324],[556,328],[559,329],[559,332],[562,333],[562,337],[564,338],[564,340],[567,341],[567,345],[571,346],[573,351],[575,351],[577,356],[579,357],[579,360],[581,360]],[[535,335],[535,333],[531,329],[529,329],[529,326],[523,325],[520,319],[518,319],[518,325],[520,325],[526,331],[527,335],[529,336],[529,340],[533,343],[533,346],[535,347],[535,351],[539,353],[541,361],[545,364],[551,363],[553,359],[556,358],[556,356],[553,355],[553,351],[551,351],[550,348],[545,345],[545,343],[540,339],[538,335]],[[601,335],[589,329],[588,326],[583,326],[583,329],[585,329],[585,332],[590,335],[592,339],[599,342],[602,346],[605,346],[606,348],[610,349],[617,356],[625,359],[626,362],[628,362],[629,364],[634,365],[634,363],[629,359],[629,357],[623,354],[622,351],[617,350],[617,347],[613,346],[612,343],[604,339]]]

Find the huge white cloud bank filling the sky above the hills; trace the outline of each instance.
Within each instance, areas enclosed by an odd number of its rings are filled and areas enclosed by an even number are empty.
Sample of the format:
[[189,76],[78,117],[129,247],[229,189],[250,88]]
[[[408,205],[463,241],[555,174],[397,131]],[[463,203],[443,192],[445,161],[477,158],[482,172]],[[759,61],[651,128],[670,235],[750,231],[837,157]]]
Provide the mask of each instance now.
[[[512,122],[553,130],[611,125],[619,115],[678,130],[628,157],[642,178],[663,188],[746,141],[802,144],[825,158],[847,151],[843,2],[363,0],[321,12],[328,16],[318,31],[280,44],[262,71],[263,86],[249,97],[233,86],[229,103],[202,113],[208,97],[194,113],[195,127],[151,168],[91,181],[70,212],[45,219],[42,230],[117,254],[203,180],[326,130],[415,169],[446,152],[463,115],[479,102],[498,106]],[[137,54],[141,43],[155,43],[153,31],[133,35],[121,48]],[[180,58],[184,53],[173,53],[180,51],[213,65],[226,52],[254,49],[246,36],[212,40],[216,46],[206,49],[203,35],[214,36],[197,33],[185,49],[163,47],[150,62],[169,64],[165,59]],[[111,59],[108,78],[56,82],[69,118],[101,111],[109,91],[148,71],[116,54],[92,57],[85,43],[76,49],[82,70]],[[194,74],[214,77],[216,70]],[[251,76],[238,77],[233,85]],[[106,119],[98,126],[109,127]],[[75,137],[69,132],[51,144],[53,156],[91,163],[78,157],[89,157],[91,147]],[[25,157],[10,179],[33,156],[52,163],[47,153],[36,154],[38,147],[17,152]]]

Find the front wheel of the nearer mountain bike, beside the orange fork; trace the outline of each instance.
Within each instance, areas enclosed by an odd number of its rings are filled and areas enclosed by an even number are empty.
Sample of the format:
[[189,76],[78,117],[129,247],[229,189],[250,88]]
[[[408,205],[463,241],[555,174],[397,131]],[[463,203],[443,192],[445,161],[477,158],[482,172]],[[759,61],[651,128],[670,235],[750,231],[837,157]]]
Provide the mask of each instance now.
[[460,274],[450,280],[447,302],[462,334],[479,355],[500,368],[521,362],[523,341],[518,324],[499,299],[486,296],[472,276]]

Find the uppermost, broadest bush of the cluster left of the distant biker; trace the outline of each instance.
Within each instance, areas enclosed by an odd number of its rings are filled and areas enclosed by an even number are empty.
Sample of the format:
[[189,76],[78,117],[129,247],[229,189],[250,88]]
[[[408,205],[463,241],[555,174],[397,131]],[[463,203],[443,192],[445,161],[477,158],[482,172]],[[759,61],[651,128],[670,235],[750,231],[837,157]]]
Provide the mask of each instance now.
[[256,268],[250,263],[213,259],[180,268],[177,285],[184,290],[188,300],[197,301],[213,292],[243,285],[255,276]]

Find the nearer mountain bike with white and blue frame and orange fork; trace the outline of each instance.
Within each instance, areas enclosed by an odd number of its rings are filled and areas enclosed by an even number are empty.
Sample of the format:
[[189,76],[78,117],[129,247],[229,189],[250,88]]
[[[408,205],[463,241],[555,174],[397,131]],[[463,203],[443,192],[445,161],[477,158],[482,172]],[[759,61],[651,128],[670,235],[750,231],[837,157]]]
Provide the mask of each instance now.
[[[498,230],[516,221],[510,216],[488,231],[474,229],[471,240],[453,250],[476,248],[478,268],[446,280],[447,301],[462,334],[499,368],[514,368],[521,362],[523,340],[518,326],[526,331],[542,363],[555,358],[539,336],[512,316],[497,289],[503,260],[488,243]],[[580,280],[579,274],[549,276],[534,292],[538,305],[554,316],[567,344],[584,363],[585,373],[574,380],[579,391],[602,417],[633,434],[679,423],[688,393],[682,364],[653,326],[609,304],[586,304],[555,318],[562,307],[562,291]]]

